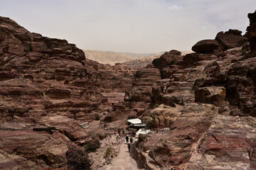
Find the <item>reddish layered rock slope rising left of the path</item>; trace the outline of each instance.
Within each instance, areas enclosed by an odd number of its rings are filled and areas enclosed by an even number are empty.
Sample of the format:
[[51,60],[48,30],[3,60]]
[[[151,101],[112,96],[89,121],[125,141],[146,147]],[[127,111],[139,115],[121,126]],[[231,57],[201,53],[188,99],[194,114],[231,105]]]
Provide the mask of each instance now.
[[[68,142],[97,136],[79,124],[112,109],[102,92],[124,93],[133,72],[86,60],[68,41],[0,17],[0,169],[65,169]],[[33,131],[42,126],[55,130]]]

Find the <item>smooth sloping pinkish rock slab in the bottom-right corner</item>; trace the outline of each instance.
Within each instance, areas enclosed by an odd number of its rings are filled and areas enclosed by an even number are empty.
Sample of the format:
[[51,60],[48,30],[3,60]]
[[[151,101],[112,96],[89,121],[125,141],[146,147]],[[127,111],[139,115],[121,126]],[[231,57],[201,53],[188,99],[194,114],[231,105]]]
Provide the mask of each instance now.
[[187,169],[255,169],[255,128],[255,118],[217,115]]

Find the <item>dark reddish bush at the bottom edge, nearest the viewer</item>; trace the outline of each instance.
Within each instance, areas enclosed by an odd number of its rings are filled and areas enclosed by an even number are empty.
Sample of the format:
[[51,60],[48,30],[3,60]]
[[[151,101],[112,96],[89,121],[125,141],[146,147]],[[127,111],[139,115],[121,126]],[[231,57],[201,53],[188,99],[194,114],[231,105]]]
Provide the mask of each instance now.
[[92,166],[92,159],[89,158],[85,149],[70,145],[66,152],[69,170],[85,170]]

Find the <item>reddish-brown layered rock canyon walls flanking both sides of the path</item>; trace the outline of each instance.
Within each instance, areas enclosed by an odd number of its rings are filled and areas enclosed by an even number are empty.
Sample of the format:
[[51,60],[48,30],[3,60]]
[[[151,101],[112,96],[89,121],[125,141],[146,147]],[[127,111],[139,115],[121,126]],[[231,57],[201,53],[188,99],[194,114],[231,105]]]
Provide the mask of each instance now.
[[[192,53],[170,50],[141,69],[88,60],[67,40],[0,17],[0,169],[68,169],[73,144],[100,140],[92,169],[107,169],[140,118],[138,169],[256,169],[256,11]],[[245,18],[246,19],[246,18]]]

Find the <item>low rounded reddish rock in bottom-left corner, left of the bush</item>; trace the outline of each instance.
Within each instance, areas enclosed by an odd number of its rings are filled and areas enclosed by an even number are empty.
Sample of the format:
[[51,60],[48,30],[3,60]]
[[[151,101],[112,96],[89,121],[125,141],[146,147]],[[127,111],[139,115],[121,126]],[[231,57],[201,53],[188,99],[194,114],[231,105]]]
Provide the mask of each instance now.
[[36,164],[34,169],[64,169],[68,146],[61,137],[55,138],[56,135],[31,130],[0,130],[1,154],[12,154],[9,159],[0,159],[0,167],[5,162],[21,159],[22,162],[16,162],[11,167],[31,169]]

